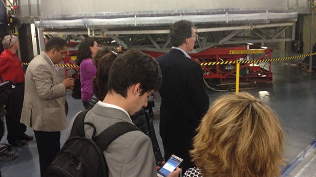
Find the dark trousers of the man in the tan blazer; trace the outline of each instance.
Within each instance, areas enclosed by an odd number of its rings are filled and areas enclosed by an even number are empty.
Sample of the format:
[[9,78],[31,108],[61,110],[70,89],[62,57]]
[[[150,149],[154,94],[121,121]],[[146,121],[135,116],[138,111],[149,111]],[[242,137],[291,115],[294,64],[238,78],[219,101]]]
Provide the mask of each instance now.
[[60,150],[60,131],[41,132],[35,131],[35,139],[39,157],[40,176],[45,176],[47,167],[53,162]]

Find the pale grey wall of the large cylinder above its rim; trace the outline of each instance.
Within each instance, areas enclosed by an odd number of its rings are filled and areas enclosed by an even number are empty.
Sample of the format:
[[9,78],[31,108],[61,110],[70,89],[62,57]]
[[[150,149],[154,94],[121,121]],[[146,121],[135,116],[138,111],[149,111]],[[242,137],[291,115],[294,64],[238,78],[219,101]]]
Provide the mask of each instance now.
[[268,8],[297,8],[306,6],[307,1],[298,0],[199,0],[199,1],[170,1],[170,0],[121,0],[121,1],[91,1],[91,0],[41,0],[41,16],[59,16],[91,14],[100,12],[139,12],[139,11],[179,11],[205,9],[268,9]]

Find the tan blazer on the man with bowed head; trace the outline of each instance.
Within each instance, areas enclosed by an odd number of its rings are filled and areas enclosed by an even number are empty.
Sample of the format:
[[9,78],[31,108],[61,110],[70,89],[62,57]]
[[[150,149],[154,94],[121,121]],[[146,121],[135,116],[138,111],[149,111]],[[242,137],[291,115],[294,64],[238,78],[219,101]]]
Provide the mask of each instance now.
[[66,87],[49,58],[41,53],[29,64],[21,123],[43,132],[65,130]]

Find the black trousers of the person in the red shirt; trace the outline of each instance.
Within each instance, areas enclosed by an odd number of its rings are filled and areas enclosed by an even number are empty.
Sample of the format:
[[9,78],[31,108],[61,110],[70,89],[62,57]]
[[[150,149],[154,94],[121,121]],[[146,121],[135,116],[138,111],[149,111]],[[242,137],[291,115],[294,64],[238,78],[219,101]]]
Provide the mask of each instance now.
[[26,131],[25,124],[20,123],[24,100],[24,83],[19,83],[19,85],[10,91],[11,93],[9,94],[8,103],[5,108],[8,112],[6,115],[7,140],[14,141],[19,138],[20,134]]

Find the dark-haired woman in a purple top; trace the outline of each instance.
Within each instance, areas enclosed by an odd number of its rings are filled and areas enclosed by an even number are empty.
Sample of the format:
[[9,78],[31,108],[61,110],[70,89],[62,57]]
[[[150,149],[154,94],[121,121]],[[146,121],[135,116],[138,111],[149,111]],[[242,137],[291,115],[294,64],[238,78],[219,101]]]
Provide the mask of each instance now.
[[98,43],[92,38],[86,38],[79,44],[77,51],[77,65],[80,66],[81,100],[83,107],[88,108],[93,96],[92,79],[96,74],[96,67],[92,58],[99,50]]

